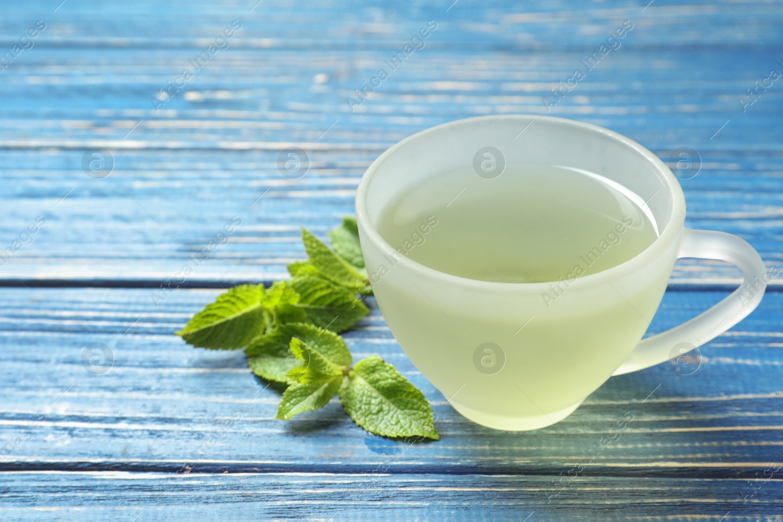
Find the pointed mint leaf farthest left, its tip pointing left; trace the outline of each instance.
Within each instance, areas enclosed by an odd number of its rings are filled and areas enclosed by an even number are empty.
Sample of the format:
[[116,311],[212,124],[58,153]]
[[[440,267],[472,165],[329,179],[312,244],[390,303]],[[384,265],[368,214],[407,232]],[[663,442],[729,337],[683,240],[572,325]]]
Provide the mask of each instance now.
[[194,347],[233,350],[247,346],[264,331],[263,285],[240,285],[221,293],[193,315],[177,335]]

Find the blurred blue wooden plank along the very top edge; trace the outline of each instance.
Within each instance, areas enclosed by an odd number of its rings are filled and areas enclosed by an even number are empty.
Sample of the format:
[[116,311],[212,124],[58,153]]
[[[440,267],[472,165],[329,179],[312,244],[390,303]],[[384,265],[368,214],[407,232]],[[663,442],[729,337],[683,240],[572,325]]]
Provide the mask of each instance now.
[[[628,19],[642,29],[634,34],[637,45],[685,49],[692,45],[745,47],[761,45],[753,34],[766,45],[774,45],[781,38],[775,25],[781,14],[780,5],[760,1],[731,2],[731,10],[706,0],[684,5],[654,2],[647,7],[645,2],[608,6],[555,0],[531,7],[496,2],[488,8],[480,3],[459,2],[448,11],[449,2],[410,5],[406,9],[339,1],[332,2],[334,7],[282,0],[265,0],[257,6],[255,2],[236,0],[220,5],[204,0],[172,0],[165,4],[137,0],[136,4],[138,7],[102,5],[97,0],[89,0],[63,6],[54,13],[48,5],[45,8],[8,5],[4,8],[3,34],[6,40],[13,41],[16,38],[12,35],[26,31],[30,20],[46,15],[55,27],[60,23],[72,29],[92,29],[50,31],[45,34],[50,44],[75,42],[80,46],[96,46],[105,42],[116,47],[149,45],[165,50],[209,41],[222,28],[224,20],[227,23],[237,17],[243,20],[243,31],[251,33],[242,34],[243,45],[259,49],[281,46],[333,49],[339,45],[373,49],[407,40],[407,33],[417,30],[420,20],[431,19],[450,23],[460,30],[442,36],[443,41],[456,45],[456,49],[593,47],[597,39],[605,38],[604,31],[611,31],[617,23]],[[742,27],[738,18],[749,29]],[[494,28],[500,31],[493,31]]]

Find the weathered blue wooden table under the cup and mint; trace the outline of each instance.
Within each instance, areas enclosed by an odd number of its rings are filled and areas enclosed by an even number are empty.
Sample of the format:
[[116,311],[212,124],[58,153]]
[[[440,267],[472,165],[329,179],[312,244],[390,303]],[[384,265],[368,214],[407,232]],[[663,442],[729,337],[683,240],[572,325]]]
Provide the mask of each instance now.
[[[431,401],[442,440],[414,445],[336,403],[276,420],[241,351],[172,334],[222,287],[286,278],[299,225],[323,237],[352,213],[388,146],[489,113],[630,136],[681,178],[687,226],[779,268],[779,2],[61,1],[0,7],[0,520],[781,520],[779,277],[690,366],[612,378],[524,433],[454,412],[370,300],[345,338]],[[301,178],[278,169],[290,146]],[[681,260],[651,331],[738,282]]]

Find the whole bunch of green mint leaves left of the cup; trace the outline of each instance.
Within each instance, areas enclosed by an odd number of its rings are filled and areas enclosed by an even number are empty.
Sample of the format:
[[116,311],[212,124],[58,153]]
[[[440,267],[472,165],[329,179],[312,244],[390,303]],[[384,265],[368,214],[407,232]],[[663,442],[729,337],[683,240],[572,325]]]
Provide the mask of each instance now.
[[424,394],[377,355],[353,364],[337,335],[369,312],[357,294],[372,293],[355,218],[329,233],[332,250],[306,229],[309,259],[288,265],[292,279],[240,285],[218,296],[177,332],[194,347],[244,347],[247,365],[285,388],[276,418],[323,408],[338,395],[370,433],[438,440]]

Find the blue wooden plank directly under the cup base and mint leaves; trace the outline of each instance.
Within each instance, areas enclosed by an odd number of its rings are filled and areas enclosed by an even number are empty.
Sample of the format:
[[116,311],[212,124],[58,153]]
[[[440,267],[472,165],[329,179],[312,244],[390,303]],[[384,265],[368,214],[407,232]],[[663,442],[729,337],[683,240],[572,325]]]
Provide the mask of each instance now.
[[[612,378],[561,423],[520,433],[454,412],[370,301],[371,315],[345,340],[357,359],[377,353],[397,365],[433,404],[442,441],[411,446],[366,434],[336,401],[274,419],[280,393],[248,372],[241,351],[194,349],[172,333],[215,293],[181,290],[155,308],[150,290],[2,290],[0,441],[13,451],[0,470],[172,472],[189,463],[205,473],[369,473],[399,452],[399,473],[557,474],[588,459],[629,413],[633,421],[591,459],[591,473],[753,477],[783,460],[783,293],[769,293],[748,319],[702,347],[695,373],[665,363]],[[722,295],[667,293],[653,329]],[[83,366],[91,343],[113,352],[102,375]]]

